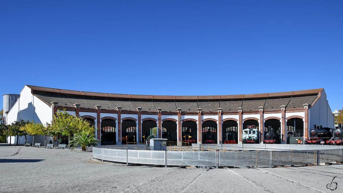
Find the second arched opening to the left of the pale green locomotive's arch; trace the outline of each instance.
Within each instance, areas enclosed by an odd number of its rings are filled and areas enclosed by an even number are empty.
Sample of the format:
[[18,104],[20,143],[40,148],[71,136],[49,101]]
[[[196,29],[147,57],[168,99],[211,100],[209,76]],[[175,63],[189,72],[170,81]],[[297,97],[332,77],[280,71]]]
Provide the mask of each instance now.
[[217,136],[217,122],[204,121],[202,123],[202,143],[203,144],[216,144],[218,141]]

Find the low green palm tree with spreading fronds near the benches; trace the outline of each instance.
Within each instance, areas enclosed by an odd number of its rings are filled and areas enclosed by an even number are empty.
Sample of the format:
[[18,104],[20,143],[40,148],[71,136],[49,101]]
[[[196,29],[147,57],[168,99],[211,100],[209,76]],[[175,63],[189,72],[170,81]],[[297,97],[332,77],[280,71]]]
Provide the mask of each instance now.
[[74,137],[70,138],[70,145],[81,146],[82,151],[87,150],[87,146],[96,146],[99,144],[99,140],[95,139],[95,134],[93,132],[89,132],[85,129],[82,129],[80,132],[74,134]]

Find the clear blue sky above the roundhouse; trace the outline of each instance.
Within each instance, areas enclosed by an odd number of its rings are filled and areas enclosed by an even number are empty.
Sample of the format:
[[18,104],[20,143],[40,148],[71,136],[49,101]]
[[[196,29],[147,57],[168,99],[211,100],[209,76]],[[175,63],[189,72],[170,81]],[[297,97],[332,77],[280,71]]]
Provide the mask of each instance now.
[[342,10],[343,1],[0,1],[0,93],[324,88],[342,109]]

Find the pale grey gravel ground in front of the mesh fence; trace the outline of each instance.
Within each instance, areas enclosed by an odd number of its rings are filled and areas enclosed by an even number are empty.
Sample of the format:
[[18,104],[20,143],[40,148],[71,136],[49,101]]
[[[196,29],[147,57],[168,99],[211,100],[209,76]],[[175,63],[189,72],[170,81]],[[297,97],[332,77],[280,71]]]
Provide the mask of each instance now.
[[[343,192],[343,165],[144,168],[101,162],[76,150],[0,145],[0,192]],[[331,191],[327,184],[335,176],[338,187]]]

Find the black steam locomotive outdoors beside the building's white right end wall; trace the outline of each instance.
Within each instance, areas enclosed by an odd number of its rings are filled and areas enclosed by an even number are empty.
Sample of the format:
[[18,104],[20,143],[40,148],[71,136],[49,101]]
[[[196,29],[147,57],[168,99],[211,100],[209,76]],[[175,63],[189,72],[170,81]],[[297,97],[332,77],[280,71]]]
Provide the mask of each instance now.
[[322,125],[313,125],[309,138],[305,139],[305,144],[327,144],[332,138],[332,128]]

